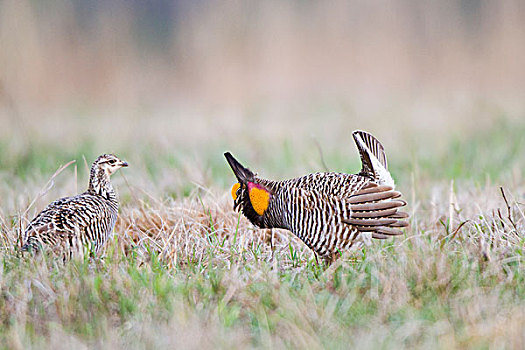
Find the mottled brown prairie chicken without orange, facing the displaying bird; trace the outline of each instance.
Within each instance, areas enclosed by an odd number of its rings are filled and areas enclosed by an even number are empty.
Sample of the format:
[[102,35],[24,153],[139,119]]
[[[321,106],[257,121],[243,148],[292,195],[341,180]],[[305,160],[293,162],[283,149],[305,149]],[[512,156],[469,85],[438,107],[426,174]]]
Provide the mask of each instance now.
[[49,204],[28,225],[23,251],[49,250],[64,259],[99,254],[117,220],[118,199],[110,176],[128,163],[112,154],[91,166],[88,189]]

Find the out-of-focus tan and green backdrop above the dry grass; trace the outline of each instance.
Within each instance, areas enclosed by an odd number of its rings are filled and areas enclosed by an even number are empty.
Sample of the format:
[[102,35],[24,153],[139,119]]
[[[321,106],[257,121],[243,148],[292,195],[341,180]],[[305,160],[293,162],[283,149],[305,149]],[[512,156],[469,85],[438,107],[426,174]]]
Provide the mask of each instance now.
[[228,183],[230,150],[270,177],[355,172],[354,129],[398,164],[494,129],[512,151],[524,62],[520,0],[1,0],[0,166],[115,152],[149,180]]

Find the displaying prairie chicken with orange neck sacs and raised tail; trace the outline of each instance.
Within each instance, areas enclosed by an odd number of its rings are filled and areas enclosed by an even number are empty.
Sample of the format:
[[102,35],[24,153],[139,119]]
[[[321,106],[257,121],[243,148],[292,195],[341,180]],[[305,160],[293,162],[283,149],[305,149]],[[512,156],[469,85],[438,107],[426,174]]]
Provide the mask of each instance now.
[[355,175],[327,172],[266,180],[225,153],[239,181],[232,188],[234,209],[260,228],[293,232],[328,261],[350,248],[360,233],[378,239],[402,234],[408,214],[399,208],[406,202],[394,190],[383,146],[364,131],[352,135],[362,162]]

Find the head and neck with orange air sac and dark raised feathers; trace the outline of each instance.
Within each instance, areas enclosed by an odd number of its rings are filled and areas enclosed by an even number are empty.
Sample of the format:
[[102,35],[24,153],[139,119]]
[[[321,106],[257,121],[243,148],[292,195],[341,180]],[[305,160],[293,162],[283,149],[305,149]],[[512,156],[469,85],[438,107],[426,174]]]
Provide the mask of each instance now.
[[245,168],[229,152],[224,154],[233,170],[237,183],[232,187],[233,208],[242,213],[255,225],[263,227],[263,217],[270,206],[272,191],[260,183],[255,174]]

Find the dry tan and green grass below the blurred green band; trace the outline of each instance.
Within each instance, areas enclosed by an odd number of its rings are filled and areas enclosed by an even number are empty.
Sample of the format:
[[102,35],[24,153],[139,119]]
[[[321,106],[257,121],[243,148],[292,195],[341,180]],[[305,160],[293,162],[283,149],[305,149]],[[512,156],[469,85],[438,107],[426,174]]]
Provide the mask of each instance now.
[[[104,261],[66,266],[19,260],[17,218],[4,204],[2,343],[520,348],[525,187],[512,175],[520,154],[510,173],[498,175],[507,179],[505,196],[499,181],[480,184],[461,172],[455,182],[421,169],[395,174],[410,202],[406,235],[372,242],[329,267],[288,232],[252,227],[216,184],[160,195],[143,175],[117,176],[124,204],[115,242]],[[64,174],[55,187],[71,191],[71,182],[60,182]],[[32,199],[18,202],[23,208]]]

